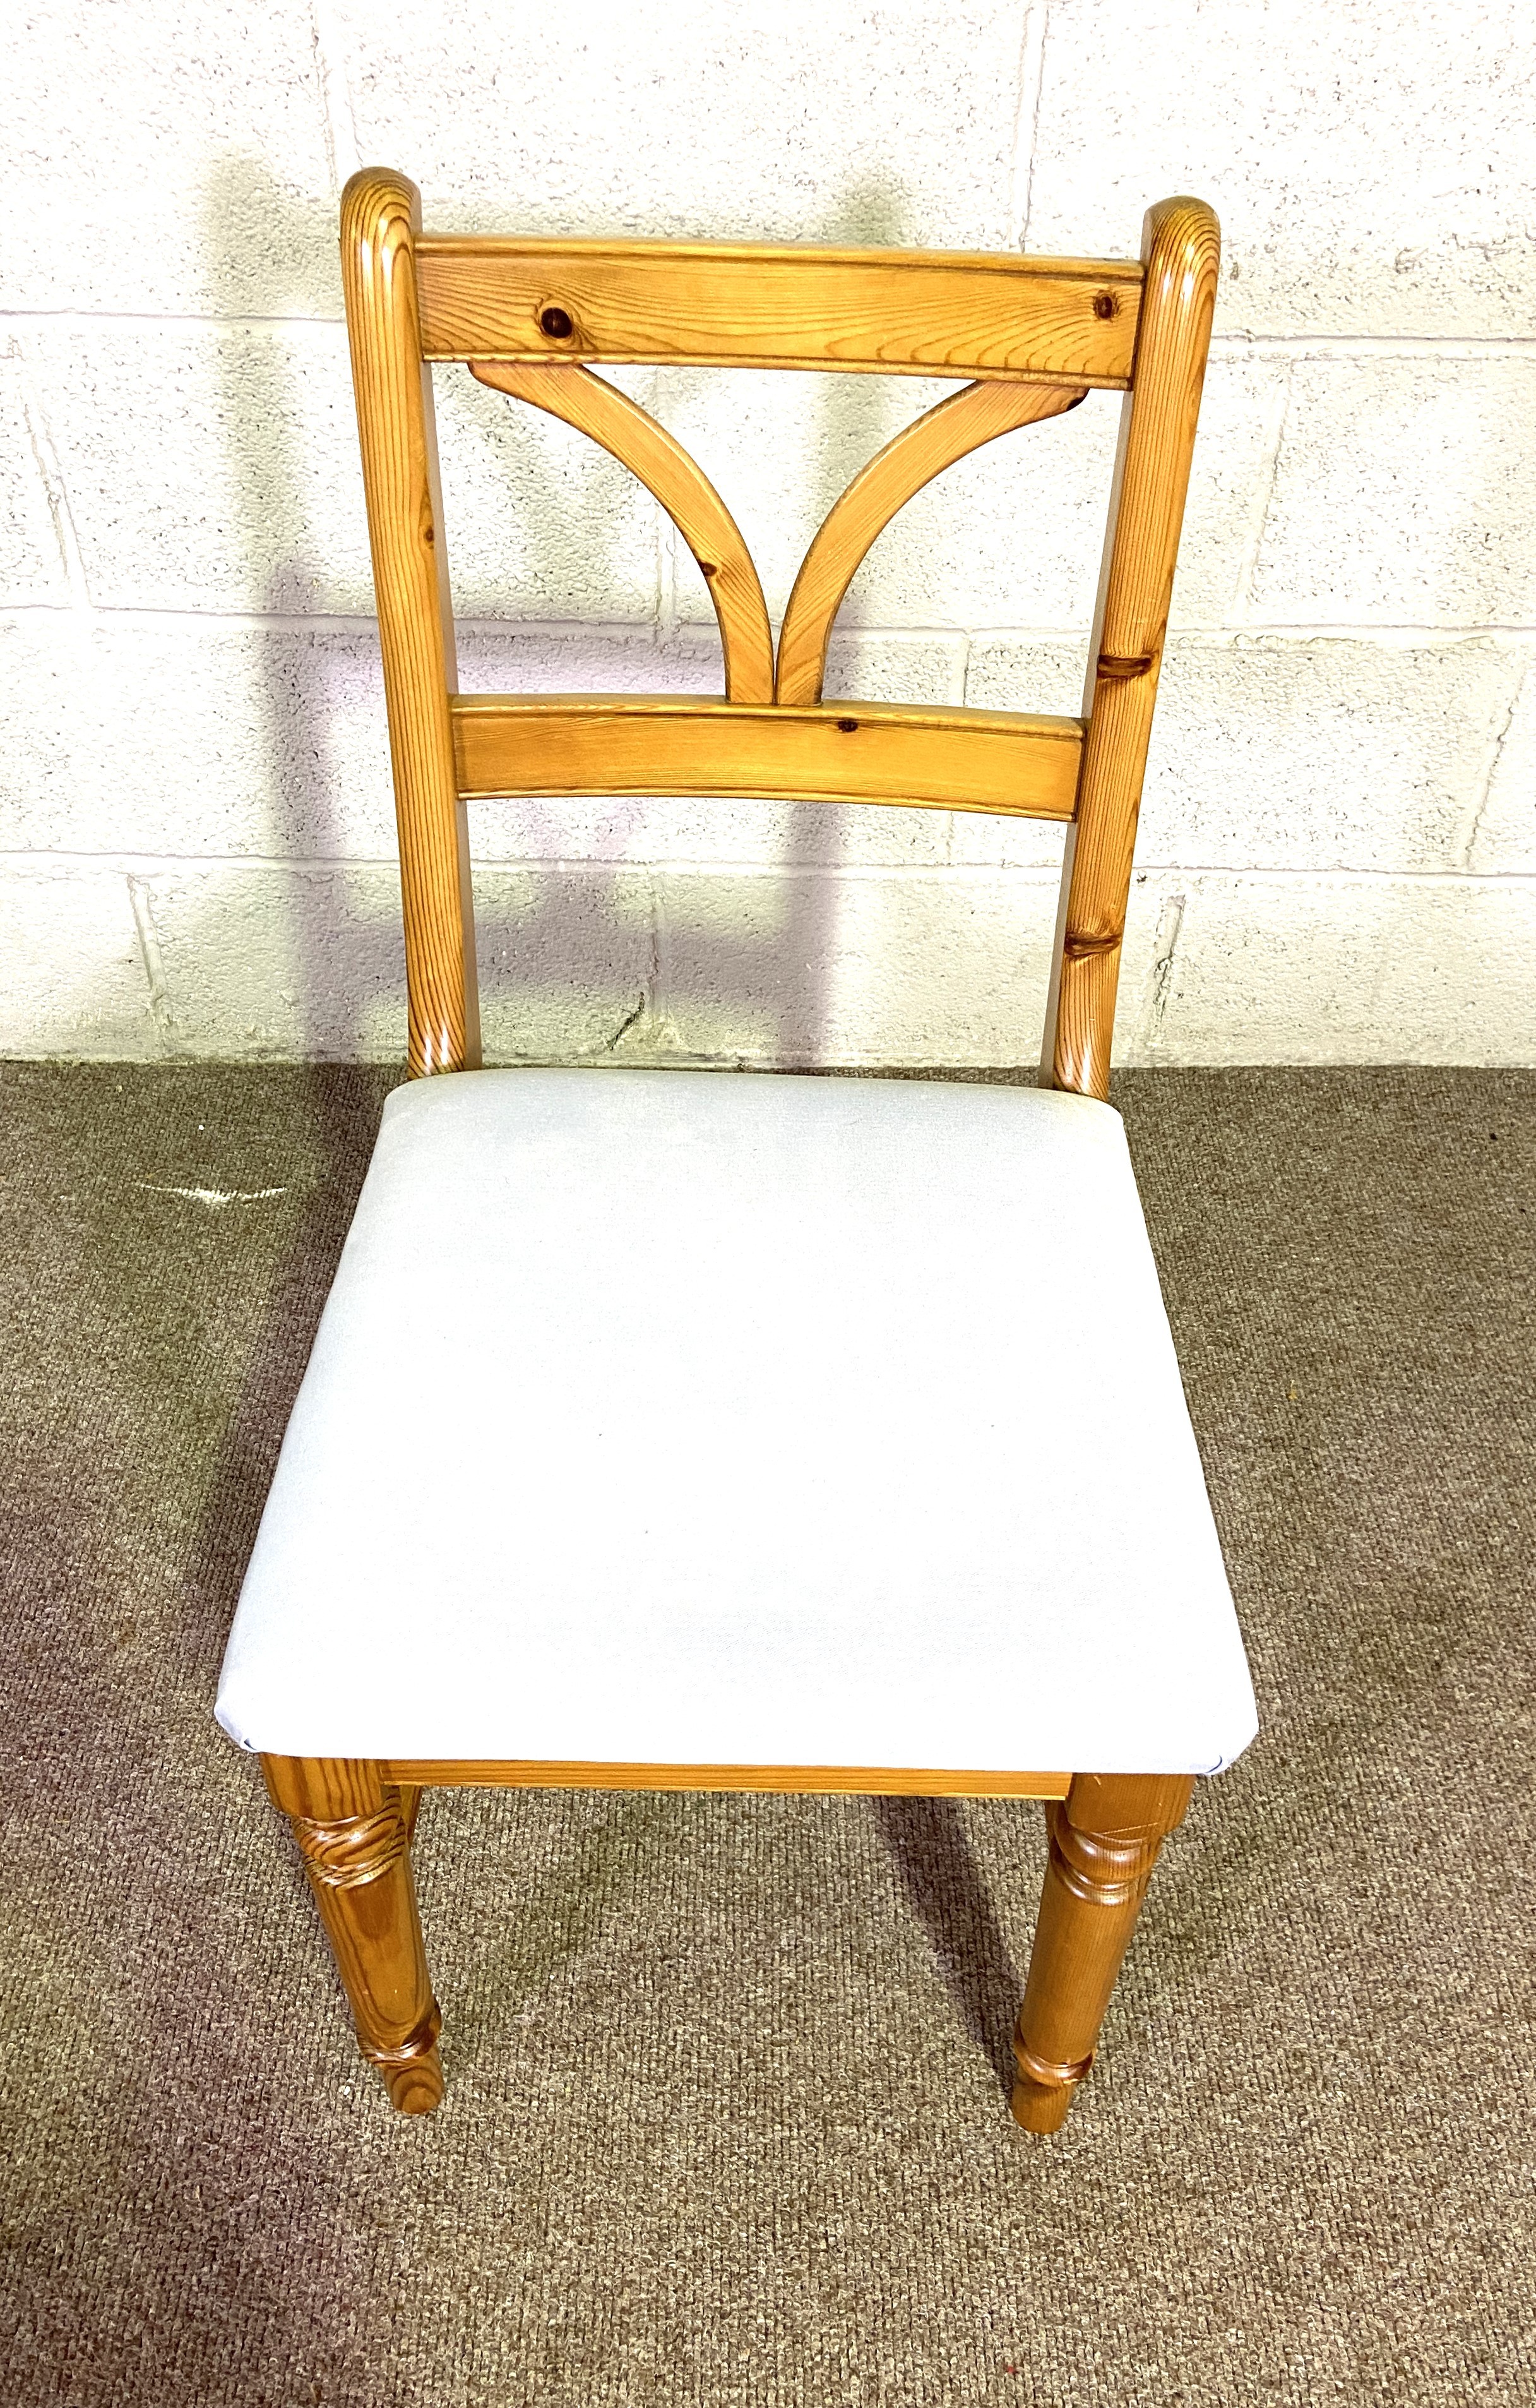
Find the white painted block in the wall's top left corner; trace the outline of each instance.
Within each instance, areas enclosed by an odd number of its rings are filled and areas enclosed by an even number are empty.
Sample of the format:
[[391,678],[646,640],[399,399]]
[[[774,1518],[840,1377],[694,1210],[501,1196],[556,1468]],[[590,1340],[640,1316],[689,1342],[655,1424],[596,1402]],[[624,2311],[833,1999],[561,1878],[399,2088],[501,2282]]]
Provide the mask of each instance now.
[[5,120],[10,308],[339,315],[308,0],[24,10]]

